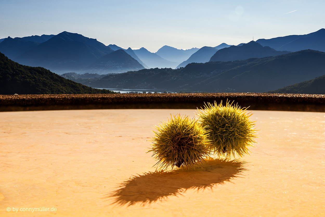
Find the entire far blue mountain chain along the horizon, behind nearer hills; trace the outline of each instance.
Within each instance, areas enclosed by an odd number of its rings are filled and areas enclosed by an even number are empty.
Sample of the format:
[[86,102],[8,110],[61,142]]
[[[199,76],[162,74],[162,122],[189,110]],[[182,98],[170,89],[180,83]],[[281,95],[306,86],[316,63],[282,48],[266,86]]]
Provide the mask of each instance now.
[[[105,46],[96,39],[69,32],[62,32],[57,35],[32,35],[22,38],[7,37],[0,39],[0,52],[10,59],[24,65],[46,67],[58,74],[85,73],[89,70],[90,65],[95,67],[93,63],[99,58],[119,49],[123,48],[113,44]],[[137,50],[132,50],[129,47],[123,50],[144,68],[179,68],[192,62],[245,60],[277,56],[305,49],[325,51],[325,29],[305,35],[258,39],[256,42],[241,43],[238,46],[222,43],[216,47],[182,50],[165,45],[156,53],[149,52],[144,47]],[[115,54],[118,53],[112,55]],[[122,56],[119,56],[122,58],[119,61],[120,63],[123,60],[129,62],[119,64],[120,69],[127,65],[134,65],[132,59],[123,59]],[[135,68],[124,68],[119,71],[114,71],[114,67],[111,68],[108,65],[107,69],[99,68],[102,69],[102,73],[124,72],[125,70],[139,69],[136,65],[134,65]],[[94,70],[91,72],[95,73]]]

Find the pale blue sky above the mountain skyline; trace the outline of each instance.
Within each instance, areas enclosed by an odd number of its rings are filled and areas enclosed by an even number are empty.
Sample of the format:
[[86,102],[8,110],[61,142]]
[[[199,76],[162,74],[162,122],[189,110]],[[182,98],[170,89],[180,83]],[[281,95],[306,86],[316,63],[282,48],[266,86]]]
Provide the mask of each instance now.
[[325,28],[324,8],[324,0],[0,0],[0,38],[67,31],[151,52],[237,45]]

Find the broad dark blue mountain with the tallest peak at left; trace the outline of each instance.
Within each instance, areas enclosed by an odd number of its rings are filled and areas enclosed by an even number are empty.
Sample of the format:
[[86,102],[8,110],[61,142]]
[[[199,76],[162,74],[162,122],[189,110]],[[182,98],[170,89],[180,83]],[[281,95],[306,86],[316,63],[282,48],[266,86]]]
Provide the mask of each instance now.
[[15,58],[21,64],[50,70],[81,70],[112,49],[80,34],[62,32]]

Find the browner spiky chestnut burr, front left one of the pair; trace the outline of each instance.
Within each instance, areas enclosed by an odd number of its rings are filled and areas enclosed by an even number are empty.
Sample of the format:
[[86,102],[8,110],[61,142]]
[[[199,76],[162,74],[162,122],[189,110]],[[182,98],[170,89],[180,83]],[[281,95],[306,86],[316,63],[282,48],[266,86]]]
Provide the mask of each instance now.
[[195,119],[171,115],[168,122],[155,129],[152,148],[148,152],[153,152],[160,169],[182,166],[189,170],[210,154],[208,132]]

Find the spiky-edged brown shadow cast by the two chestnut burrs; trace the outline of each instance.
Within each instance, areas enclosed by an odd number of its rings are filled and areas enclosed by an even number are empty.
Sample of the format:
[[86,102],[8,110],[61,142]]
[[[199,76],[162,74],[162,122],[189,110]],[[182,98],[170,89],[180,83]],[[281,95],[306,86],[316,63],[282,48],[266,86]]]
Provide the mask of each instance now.
[[162,201],[167,197],[182,195],[188,189],[199,191],[229,182],[240,177],[245,171],[246,162],[240,160],[214,159],[203,162],[203,168],[191,171],[146,172],[137,174],[121,183],[116,190],[104,198],[113,200],[112,204],[131,206]]

